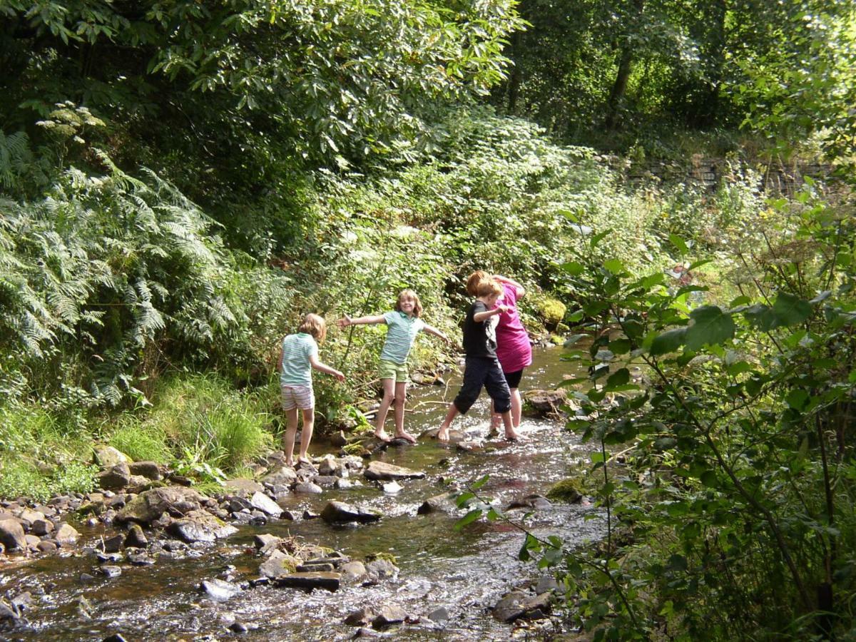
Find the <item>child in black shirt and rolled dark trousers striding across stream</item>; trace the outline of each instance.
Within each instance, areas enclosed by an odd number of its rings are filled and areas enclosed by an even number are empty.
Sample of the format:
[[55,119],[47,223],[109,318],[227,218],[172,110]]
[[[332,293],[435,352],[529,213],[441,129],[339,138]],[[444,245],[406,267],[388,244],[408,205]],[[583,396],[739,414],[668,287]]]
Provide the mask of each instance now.
[[496,413],[502,415],[505,438],[514,441],[519,437],[511,424],[511,393],[496,359],[496,325],[491,323],[493,317],[508,309],[508,306],[494,307],[502,294],[502,286],[494,279],[485,279],[479,282],[476,294],[478,298],[473,301],[464,321],[463,344],[467,354],[464,382],[437,431],[437,439],[442,442],[449,441],[452,420],[458,413],[467,413],[479,398],[483,386],[493,400]]

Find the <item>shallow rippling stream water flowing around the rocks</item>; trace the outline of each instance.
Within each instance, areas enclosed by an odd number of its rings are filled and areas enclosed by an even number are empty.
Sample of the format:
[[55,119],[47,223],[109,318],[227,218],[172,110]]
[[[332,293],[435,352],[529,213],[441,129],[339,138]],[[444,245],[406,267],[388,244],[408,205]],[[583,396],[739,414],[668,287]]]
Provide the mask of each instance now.
[[[562,374],[569,372],[568,363],[560,360],[561,352],[536,350],[522,388],[555,388]],[[408,430],[419,434],[437,427],[457,385],[452,377],[446,388],[413,386]],[[453,428],[484,437],[487,403],[483,394]],[[284,507],[301,514],[304,509],[318,513],[331,499],[360,503],[383,512],[383,519],[372,525],[334,527],[323,520],[278,520],[266,526],[242,526],[237,535],[192,548],[180,559],[158,558],[149,567],[120,562],[122,574],[113,579],[94,572],[97,560],[81,550],[86,541],[67,555],[34,561],[12,557],[5,567],[0,566],[0,591],[7,596],[30,591],[33,604],[26,621],[14,630],[0,631],[0,638],[100,640],[121,633],[127,640],[348,639],[355,628],[342,621],[354,609],[394,603],[419,619],[399,628],[396,639],[509,639],[513,625],[496,621],[490,609],[507,591],[539,577],[534,564],[517,559],[521,532],[502,521],[481,521],[455,531],[456,516],[418,515],[417,508],[446,490],[442,479],[467,483],[485,474],[490,479],[479,492],[504,507],[522,496],[544,494],[566,476],[571,462],[588,457],[588,448],[556,421],[524,418],[521,432],[525,437],[521,443],[488,439],[484,450],[472,453],[431,439],[414,447],[389,449],[375,456],[424,471],[425,479],[402,481],[403,489],[389,495],[361,477],[354,478],[360,479],[360,485],[326,489],[321,496],[294,495],[293,505]],[[314,452],[319,455],[324,449],[324,444],[318,444]],[[522,512],[509,515],[520,518]],[[583,545],[599,538],[603,529],[595,508],[559,503],[538,509],[526,526],[538,535],[556,534],[569,544]],[[100,535],[85,526],[80,531],[92,539],[90,544]],[[299,536],[307,544],[329,546],[353,559],[386,552],[395,556],[401,572],[376,586],[342,586],[334,593],[257,586],[218,603],[199,591],[201,580],[223,578],[227,573],[236,581],[258,577],[261,560],[255,555],[253,535],[265,532]],[[80,597],[88,603],[88,617],[80,614]],[[427,615],[439,607],[448,609],[449,620],[438,624]],[[247,625],[247,633],[229,632],[233,621]]]

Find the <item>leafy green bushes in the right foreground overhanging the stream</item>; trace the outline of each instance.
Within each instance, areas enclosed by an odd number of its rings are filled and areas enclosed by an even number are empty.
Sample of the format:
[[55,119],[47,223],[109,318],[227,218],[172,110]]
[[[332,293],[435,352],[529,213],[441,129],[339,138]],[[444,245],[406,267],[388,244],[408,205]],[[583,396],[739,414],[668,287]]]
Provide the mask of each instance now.
[[[741,250],[754,287],[729,305],[687,305],[694,286],[620,261],[568,265],[576,288],[598,293],[591,348],[568,355],[597,385],[575,393],[587,416],[568,427],[600,447],[591,477],[603,479],[607,539],[571,552],[530,536],[525,549],[561,569],[595,638],[847,626],[856,227],[816,187],[772,204],[764,245]],[[631,377],[636,364],[650,384]]]

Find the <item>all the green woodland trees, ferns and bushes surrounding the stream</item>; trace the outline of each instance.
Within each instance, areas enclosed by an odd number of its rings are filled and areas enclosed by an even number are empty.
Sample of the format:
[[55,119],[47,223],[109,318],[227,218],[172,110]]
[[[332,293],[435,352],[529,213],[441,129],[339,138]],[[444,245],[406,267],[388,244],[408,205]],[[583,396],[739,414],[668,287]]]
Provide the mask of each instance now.
[[[96,441],[239,474],[304,313],[410,287],[456,336],[494,270],[533,332],[594,340],[568,427],[609,536],[521,550],[568,626],[852,637],[852,3],[0,0],[0,27],[0,496],[89,490]],[[330,331],[329,428],[382,333]]]

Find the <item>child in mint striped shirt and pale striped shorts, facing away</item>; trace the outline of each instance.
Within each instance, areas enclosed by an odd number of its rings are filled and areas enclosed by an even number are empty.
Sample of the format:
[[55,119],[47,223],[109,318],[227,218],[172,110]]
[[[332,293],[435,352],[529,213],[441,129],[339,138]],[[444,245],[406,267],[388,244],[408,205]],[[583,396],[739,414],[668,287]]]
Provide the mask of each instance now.
[[279,386],[282,391],[282,410],[285,411],[285,463],[294,466],[294,437],[297,434],[297,409],[303,414],[303,432],[300,434],[300,455],[297,461],[309,463],[306,449],[312,439],[315,425],[315,395],[312,392],[312,368],[345,380],[342,372],[318,360],[318,343],[327,336],[327,324],[317,314],[307,314],[297,334],[282,339],[279,357]]

